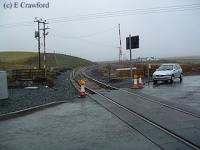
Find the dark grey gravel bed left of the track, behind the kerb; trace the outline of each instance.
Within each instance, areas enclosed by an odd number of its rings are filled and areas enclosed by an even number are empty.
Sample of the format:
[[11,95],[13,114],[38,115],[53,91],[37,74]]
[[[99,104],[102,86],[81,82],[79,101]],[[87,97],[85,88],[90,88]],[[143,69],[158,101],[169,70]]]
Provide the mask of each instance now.
[[9,89],[9,98],[0,100],[0,114],[23,110],[54,101],[67,101],[77,97],[77,91],[69,79],[70,71],[62,72],[53,88]]

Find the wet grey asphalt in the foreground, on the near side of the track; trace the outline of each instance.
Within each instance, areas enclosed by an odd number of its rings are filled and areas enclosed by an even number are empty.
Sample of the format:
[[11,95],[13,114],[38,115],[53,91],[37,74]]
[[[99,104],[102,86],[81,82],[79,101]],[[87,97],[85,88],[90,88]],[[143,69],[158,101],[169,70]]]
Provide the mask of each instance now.
[[1,150],[157,150],[91,99],[0,122]]

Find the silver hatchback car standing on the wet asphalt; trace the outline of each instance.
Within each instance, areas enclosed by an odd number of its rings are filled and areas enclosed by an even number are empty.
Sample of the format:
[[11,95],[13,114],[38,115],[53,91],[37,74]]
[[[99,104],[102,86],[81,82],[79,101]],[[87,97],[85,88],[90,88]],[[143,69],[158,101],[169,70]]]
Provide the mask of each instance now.
[[182,81],[183,70],[179,64],[162,64],[153,73],[153,83],[157,81],[170,81],[173,83],[175,78],[179,78]]

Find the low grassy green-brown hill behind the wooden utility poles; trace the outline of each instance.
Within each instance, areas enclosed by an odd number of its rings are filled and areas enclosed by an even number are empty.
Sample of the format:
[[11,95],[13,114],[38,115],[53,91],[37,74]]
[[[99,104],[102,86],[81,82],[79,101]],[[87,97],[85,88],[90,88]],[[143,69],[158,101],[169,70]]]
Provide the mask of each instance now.
[[[48,68],[75,68],[92,64],[91,61],[63,54],[46,54]],[[41,54],[41,67],[43,67]],[[38,68],[38,53],[36,52],[0,52],[0,69]]]

